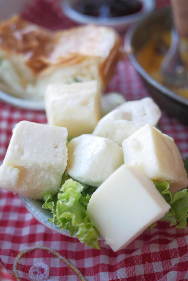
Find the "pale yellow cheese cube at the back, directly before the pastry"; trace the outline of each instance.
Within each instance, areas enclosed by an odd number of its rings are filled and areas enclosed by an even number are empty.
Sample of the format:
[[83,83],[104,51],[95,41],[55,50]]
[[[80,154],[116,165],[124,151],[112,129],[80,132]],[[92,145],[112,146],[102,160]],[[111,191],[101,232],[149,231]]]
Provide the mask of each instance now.
[[48,123],[66,127],[69,139],[92,133],[101,118],[97,81],[49,85],[45,109]]

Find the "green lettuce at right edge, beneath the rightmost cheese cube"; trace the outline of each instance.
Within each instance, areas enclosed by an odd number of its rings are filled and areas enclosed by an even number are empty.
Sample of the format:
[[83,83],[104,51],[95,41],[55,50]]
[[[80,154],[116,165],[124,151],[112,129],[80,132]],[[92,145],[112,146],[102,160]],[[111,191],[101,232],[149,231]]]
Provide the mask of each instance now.
[[156,188],[164,197],[166,202],[170,204],[170,210],[165,214],[161,220],[170,222],[170,226],[176,225],[176,228],[185,228],[188,217],[188,190],[187,188],[171,193],[169,191],[168,182],[154,182]]

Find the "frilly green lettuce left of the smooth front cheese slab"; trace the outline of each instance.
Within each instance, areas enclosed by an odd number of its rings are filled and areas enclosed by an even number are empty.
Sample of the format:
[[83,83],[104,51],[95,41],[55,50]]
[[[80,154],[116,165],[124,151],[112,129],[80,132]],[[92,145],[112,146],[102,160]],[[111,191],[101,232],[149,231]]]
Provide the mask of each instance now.
[[[71,235],[79,238],[80,242],[86,243],[95,249],[100,249],[98,244],[99,232],[89,220],[86,213],[90,195],[86,194],[87,185],[71,179],[68,174],[64,174],[62,187],[55,198],[48,192],[43,193],[43,208],[51,210],[53,218],[49,221],[58,225],[59,229],[66,229]],[[83,194],[82,194],[83,192]],[[83,196],[84,195],[84,196]]]

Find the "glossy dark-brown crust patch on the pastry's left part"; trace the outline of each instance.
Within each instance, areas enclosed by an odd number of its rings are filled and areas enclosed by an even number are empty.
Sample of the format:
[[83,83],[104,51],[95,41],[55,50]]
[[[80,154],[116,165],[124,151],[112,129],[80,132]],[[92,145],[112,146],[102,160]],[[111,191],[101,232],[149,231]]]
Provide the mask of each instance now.
[[26,64],[39,72],[45,67],[43,58],[54,48],[53,33],[20,16],[11,17],[0,25],[0,48],[7,53],[22,54]]

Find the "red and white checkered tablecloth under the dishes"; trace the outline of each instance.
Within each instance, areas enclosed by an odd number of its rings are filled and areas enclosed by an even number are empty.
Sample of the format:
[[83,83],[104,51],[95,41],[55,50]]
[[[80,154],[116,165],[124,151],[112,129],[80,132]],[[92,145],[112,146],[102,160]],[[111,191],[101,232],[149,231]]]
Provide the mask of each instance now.
[[[158,6],[167,1],[158,1]],[[71,22],[60,12],[56,0],[34,0],[24,16],[46,27],[67,28]],[[108,88],[127,99],[140,99],[148,93],[127,60],[120,62]],[[26,111],[0,102],[0,161],[3,160],[12,128],[20,120],[45,123],[44,112]],[[172,136],[183,157],[188,155],[188,127],[163,114],[161,129]],[[139,214],[138,214],[139,216]],[[18,253],[34,245],[44,245],[68,258],[87,280],[188,280],[188,227],[170,228],[160,222],[144,231],[125,249],[114,253],[100,241],[101,250],[91,249],[77,239],[55,233],[28,213],[18,195],[0,189],[0,263],[12,274]],[[80,280],[64,262],[48,251],[34,250],[18,263],[20,280],[29,280],[30,266],[46,262],[53,280]]]

